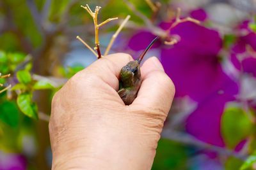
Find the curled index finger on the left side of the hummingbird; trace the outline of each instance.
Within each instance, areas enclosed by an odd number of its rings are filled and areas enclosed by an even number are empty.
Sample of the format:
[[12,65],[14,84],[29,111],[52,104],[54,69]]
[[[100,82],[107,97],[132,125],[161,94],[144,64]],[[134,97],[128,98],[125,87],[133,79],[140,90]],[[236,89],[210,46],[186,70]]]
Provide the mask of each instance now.
[[96,60],[89,67],[81,71],[83,74],[94,74],[118,90],[120,71],[129,61],[133,60],[127,53],[114,53]]

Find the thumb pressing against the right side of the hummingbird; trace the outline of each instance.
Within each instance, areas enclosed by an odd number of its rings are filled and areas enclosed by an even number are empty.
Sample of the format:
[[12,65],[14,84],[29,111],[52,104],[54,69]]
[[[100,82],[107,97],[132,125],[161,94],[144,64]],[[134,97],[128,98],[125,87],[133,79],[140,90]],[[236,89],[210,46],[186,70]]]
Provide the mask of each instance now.
[[175,94],[175,87],[156,57],[144,62],[141,67],[141,78],[141,87],[132,105],[154,108],[167,114]]

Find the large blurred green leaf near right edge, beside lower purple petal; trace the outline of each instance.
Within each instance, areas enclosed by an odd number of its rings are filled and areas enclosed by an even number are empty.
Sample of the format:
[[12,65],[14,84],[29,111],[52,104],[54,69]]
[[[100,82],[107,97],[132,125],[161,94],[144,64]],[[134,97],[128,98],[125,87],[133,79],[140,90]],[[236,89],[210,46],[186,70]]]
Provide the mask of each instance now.
[[252,122],[241,108],[227,108],[221,118],[221,133],[229,148],[245,139],[252,132]]

